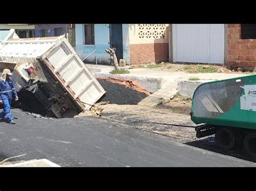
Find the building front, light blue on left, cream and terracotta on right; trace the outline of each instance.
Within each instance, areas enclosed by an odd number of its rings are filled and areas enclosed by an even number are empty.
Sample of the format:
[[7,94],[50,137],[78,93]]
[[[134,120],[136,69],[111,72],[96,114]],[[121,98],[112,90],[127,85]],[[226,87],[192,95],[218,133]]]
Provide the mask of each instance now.
[[169,60],[168,24],[76,24],[76,51],[85,62],[110,63],[105,52],[117,48],[129,65]]

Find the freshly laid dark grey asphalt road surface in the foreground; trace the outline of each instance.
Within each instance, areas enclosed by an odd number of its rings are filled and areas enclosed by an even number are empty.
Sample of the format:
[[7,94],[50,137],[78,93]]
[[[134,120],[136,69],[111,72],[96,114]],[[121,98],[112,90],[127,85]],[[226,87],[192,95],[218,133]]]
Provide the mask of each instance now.
[[18,109],[12,113],[16,125],[0,122],[0,160],[26,154],[19,160],[45,158],[65,167],[256,166],[103,118],[34,118]]

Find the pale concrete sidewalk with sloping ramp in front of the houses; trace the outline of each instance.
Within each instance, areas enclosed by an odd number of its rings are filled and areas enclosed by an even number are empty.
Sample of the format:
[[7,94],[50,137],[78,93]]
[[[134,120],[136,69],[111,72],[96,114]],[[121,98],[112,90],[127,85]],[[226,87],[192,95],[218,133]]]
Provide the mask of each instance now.
[[[204,82],[224,80],[234,77],[246,76],[246,73],[187,73],[183,71],[185,65],[170,64],[167,67],[157,68],[136,68],[129,69],[130,66],[122,68],[128,69],[130,74],[110,74],[114,69],[113,66],[106,65],[86,65],[97,78],[114,77],[117,79],[125,79],[136,81],[146,90],[153,93],[144,98],[139,105],[156,107],[159,104],[167,103],[179,91],[180,95],[192,98],[194,90]],[[188,65],[189,66],[189,65]],[[205,66],[210,67],[209,66]],[[194,81],[190,78],[193,77]]]

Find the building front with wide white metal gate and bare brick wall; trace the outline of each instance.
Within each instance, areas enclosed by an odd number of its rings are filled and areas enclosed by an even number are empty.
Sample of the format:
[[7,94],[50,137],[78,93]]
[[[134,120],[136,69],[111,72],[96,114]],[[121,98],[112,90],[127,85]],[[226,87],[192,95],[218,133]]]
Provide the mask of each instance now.
[[172,62],[256,67],[256,24],[172,24]]

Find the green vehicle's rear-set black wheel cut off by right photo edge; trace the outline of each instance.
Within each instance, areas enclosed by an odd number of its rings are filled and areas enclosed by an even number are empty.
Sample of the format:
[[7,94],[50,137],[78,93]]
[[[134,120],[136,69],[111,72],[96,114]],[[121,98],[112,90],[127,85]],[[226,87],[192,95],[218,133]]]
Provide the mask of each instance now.
[[244,150],[253,159],[256,159],[256,132],[247,133],[244,138]]

